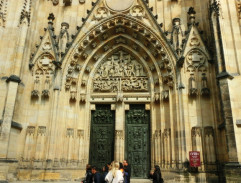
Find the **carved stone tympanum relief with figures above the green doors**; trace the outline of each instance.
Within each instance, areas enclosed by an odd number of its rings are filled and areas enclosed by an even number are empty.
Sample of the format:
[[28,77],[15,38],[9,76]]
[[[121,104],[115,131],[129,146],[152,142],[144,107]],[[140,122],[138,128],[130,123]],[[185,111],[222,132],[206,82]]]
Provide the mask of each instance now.
[[136,58],[124,51],[118,51],[104,60],[97,69],[93,91],[147,92],[148,77]]

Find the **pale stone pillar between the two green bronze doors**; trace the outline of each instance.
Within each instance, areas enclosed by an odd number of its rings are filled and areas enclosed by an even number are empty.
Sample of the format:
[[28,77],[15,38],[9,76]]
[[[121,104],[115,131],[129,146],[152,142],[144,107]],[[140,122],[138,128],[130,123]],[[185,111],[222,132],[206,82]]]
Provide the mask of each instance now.
[[[114,105],[112,105],[114,107]],[[125,124],[125,107],[123,102],[115,105],[116,123],[115,123],[115,160],[123,162],[124,160],[124,124]]]

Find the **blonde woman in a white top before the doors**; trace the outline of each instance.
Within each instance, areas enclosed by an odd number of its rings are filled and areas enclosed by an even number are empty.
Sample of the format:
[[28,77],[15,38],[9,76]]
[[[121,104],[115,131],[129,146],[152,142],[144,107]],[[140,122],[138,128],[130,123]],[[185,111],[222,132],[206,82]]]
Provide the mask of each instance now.
[[123,183],[124,177],[122,172],[119,170],[120,164],[117,161],[111,163],[111,170],[105,177],[105,181],[108,183]]

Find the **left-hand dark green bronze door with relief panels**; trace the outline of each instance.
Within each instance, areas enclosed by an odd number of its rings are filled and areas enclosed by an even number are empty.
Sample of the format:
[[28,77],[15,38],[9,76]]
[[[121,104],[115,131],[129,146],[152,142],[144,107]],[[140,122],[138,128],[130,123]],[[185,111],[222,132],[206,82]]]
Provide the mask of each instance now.
[[115,113],[110,105],[96,105],[91,112],[90,161],[102,168],[114,160]]

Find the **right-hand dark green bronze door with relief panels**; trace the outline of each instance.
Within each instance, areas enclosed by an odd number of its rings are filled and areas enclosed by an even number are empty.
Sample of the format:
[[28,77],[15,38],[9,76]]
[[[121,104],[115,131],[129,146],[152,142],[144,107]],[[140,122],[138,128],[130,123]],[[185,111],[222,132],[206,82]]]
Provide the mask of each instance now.
[[125,158],[131,165],[131,177],[147,178],[150,170],[150,113],[145,105],[130,105],[126,112]]

